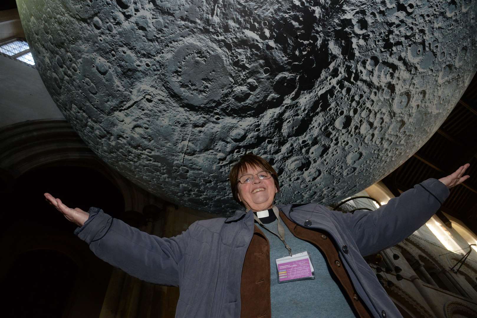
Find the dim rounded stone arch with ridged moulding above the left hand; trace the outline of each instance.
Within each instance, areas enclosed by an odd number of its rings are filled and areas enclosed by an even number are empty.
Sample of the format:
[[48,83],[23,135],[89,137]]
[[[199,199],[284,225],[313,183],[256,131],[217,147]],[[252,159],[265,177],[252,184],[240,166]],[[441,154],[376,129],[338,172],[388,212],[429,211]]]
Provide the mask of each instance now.
[[[108,178],[122,193],[125,210],[165,202],[139,188],[105,164],[65,120],[33,120],[0,128],[0,181],[13,188],[22,174],[51,165],[88,167]],[[0,188],[1,191],[1,188]],[[8,190],[5,190],[8,191]]]

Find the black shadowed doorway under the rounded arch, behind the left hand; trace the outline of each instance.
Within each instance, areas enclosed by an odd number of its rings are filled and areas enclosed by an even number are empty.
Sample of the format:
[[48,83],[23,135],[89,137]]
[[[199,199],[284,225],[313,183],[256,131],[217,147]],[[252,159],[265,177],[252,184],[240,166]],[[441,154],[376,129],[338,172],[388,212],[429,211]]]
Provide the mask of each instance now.
[[98,317],[112,267],[74,236],[77,226],[43,193],[116,217],[124,212],[119,189],[93,168],[62,164],[22,174],[11,187],[0,214],[1,316]]

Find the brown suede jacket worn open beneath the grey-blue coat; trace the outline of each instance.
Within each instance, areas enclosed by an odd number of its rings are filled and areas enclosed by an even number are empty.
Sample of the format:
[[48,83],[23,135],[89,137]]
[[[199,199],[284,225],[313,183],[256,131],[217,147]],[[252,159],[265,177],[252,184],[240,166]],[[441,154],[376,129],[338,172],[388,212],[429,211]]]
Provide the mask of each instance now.
[[[294,236],[310,242],[324,253],[326,261],[346,291],[345,296],[350,300],[354,314],[362,318],[373,317],[357,296],[348,273],[342,267],[338,251],[326,233],[299,226],[281,211],[280,217]],[[254,228],[243,263],[240,298],[240,317],[271,318],[270,245],[267,237],[257,226]]]

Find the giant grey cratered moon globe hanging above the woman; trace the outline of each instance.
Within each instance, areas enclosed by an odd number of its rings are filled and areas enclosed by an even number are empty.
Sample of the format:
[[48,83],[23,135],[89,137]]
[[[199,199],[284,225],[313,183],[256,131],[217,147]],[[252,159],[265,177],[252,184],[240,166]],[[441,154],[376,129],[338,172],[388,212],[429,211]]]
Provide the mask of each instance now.
[[[18,1],[41,78],[106,163],[229,215],[251,152],[330,204],[414,154],[477,69],[473,0]],[[94,182],[94,180],[91,180]]]

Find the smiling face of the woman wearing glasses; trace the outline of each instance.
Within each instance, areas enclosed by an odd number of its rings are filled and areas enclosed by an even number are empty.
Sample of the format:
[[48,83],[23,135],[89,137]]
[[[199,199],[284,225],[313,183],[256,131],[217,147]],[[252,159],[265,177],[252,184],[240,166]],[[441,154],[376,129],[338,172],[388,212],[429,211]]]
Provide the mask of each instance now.
[[278,192],[273,177],[260,180],[256,175],[263,171],[262,167],[247,167],[247,171],[239,174],[255,174],[253,181],[246,184],[239,183],[239,200],[247,209],[252,211],[263,211],[271,208],[275,194]]

